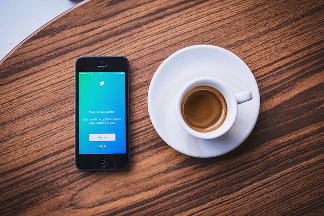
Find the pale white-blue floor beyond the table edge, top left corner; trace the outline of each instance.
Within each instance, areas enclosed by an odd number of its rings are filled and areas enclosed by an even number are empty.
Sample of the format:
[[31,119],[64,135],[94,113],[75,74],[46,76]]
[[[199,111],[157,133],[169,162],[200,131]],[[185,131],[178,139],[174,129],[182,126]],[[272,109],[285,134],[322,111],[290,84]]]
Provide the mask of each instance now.
[[0,0],[0,60],[23,39],[82,0]]

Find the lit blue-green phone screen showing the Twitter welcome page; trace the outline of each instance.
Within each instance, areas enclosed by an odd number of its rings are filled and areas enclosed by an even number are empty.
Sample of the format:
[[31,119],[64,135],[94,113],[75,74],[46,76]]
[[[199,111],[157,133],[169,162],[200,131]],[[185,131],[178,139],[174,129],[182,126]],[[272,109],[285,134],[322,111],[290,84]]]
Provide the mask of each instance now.
[[79,72],[78,80],[79,154],[125,154],[125,72]]

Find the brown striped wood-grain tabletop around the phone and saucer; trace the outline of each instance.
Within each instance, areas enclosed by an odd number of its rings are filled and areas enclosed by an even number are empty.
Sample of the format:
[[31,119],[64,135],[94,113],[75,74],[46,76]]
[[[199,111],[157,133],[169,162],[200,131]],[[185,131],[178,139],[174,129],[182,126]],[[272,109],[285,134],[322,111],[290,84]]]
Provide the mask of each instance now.
[[[324,213],[323,1],[99,1],[54,20],[0,65],[1,215]],[[195,158],[155,132],[157,67],[197,44],[250,67],[261,108],[250,137]],[[131,165],[74,165],[74,62],[130,61]]]

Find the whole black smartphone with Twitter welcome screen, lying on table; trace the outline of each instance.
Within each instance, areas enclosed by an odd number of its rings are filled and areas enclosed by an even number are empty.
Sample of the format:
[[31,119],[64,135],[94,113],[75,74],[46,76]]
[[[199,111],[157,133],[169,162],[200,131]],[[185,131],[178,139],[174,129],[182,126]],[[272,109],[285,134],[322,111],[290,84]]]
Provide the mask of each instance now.
[[80,170],[130,164],[129,62],[123,56],[75,62],[75,165]]

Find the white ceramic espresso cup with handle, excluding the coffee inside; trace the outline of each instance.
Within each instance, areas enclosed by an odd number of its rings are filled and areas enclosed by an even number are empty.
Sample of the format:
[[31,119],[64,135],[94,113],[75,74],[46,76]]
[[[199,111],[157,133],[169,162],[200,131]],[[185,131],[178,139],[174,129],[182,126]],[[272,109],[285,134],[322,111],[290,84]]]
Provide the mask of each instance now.
[[[220,126],[210,132],[198,132],[191,128],[182,115],[182,101],[188,91],[195,87],[208,86],[216,89],[222,94],[227,105],[227,114]],[[224,81],[212,77],[200,77],[188,82],[180,91],[176,101],[176,115],[179,123],[185,131],[200,139],[214,139],[224,135],[233,126],[237,117],[237,105],[252,100],[251,91],[234,94]]]

